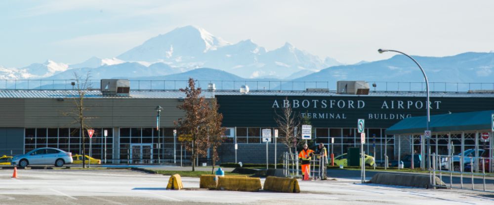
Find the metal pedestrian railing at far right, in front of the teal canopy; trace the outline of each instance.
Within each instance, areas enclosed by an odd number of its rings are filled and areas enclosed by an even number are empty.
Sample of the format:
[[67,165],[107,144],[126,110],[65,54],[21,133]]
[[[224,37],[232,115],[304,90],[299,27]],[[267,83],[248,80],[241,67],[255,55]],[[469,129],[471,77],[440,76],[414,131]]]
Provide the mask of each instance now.
[[[443,174],[449,175],[449,187],[459,189],[471,189],[477,191],[494,192],[494,189],[486,189],[486,176],[494,176],[494,174],[486,173],[486,170],[493,171],[493,158],[489,157],[474,157],[474,156],[461,156],[461,155],[438,155],[431,154],[431,169],[429,170],[430,184],[433,187],[439,187],[441,185],[436,184],[436,177],[439,177],[443,181]],[[459,187],[453,186],[453,175],[459,175]],[[470,183],[465,181],[470,181]],[[488,179],[493,183],[493,179]],[[475,182],[477,181],[477,183]],[[482,182],[480,182],[482,181]],[[467,184],[471,184],[468,187]],[[476,188],[482,186],[481,189]]]

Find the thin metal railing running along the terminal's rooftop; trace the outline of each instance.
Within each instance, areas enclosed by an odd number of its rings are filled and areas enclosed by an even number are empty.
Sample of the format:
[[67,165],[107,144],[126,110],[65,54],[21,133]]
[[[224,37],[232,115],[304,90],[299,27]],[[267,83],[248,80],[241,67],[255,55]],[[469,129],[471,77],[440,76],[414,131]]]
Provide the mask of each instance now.
[[[0,90],[73,90],[75,80],[0,80]],[[197,87],[207,88],[214,83],[218,90],[239,90],[247,85],[252,91],[305,91],[310,88],[336,90],[336,82],[283,81],[283,80],[197,80]],[[425,82],[370,81],[371,91],[422,92]],[[178,90],[188,86],[187,80],[130,80],[131,90]],[[100,80],[89,80],[89,89],[100,89]],[[494,83],[430,82],[431,92],[467,92],[470,90],[494,90]]]

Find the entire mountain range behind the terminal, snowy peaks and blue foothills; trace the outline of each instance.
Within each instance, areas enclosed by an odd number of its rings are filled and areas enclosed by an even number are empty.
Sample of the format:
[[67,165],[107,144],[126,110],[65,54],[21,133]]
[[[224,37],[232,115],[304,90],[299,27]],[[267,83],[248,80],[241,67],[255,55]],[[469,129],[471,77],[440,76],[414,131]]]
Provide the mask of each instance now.
[[[493,52],[413,57],[425,69],[430,82],[494,82]],[[384,81],[423,82],[420,70],[403,55],[342,65],[332,58],[323,59],[300,50],[288,42],[268,51],[250,39],[232,44],[195,26],[160,34],[114,58],[92,57],[78,64],[47,60],[23,68],[0,66],[0,79],[65,80],[74,78],[74,72],[87,71],[95,80],[187,80],[188,77],[209,81],[283,80],[291,81],[292,87],[297,87],[293,82],[301,81],[329,82],[325,86],[330,88],[338,80],[366,80],[376,82],[378,86]],[[283,87],[283,84],[278,86]]]

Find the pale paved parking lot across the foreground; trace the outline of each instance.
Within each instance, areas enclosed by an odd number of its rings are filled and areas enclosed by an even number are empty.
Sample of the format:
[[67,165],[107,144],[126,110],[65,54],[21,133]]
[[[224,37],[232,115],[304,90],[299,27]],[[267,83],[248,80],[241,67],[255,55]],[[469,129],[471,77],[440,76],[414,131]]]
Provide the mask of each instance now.
[[[300,194],[166,190],[169,176],[128,170],[0,170],[0,204],[493,204],[494,193],[360,184],[357,179],[300,181]],[[182,178],[198,188],[199,178]]]

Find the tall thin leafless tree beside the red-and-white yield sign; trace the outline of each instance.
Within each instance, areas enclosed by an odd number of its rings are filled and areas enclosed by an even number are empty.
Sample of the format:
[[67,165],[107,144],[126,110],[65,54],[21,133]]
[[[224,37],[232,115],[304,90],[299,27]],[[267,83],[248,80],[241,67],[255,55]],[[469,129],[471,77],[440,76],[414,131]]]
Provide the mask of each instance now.
[[[74,72],[74,77],[75,77],[75,86],[76,86],[76,95],[72,95],[72,99],[74,100],[74,105],[76,106],[74,110],[70,112],[63,113],[65,116],[72,116],[74,118],[74,121],[72,124],[78,124],[79,126],[79,132],[81,135],[81,140],[82,140],[82,156],[85,156],[85,131],[90,129],[88,126],[88,122],[92,117],[87,117],[84,115],[84,111],[86,110],[86,107],[84,106],[84,96],[86,95],[86,92],[90,88],[90,80],[89,78],[91,77],[90,72],[87,72],[85,76],[78,74],[77,72]],[[75,131],[75,130],[74,130]],[[77,134],[77,133],[71,133],[71,134]],[[86,167],[86,161],[85,157],[82,157],[82,168]]]

